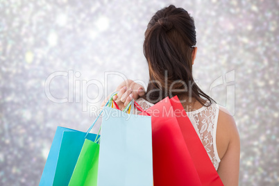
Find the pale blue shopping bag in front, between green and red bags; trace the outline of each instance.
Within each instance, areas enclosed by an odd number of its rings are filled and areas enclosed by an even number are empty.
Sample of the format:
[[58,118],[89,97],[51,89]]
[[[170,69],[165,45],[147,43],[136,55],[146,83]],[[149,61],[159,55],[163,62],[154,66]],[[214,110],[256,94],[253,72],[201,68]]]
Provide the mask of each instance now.
[[152,186],[152,163],[151,117],[130,115],[105,106],[98,185]]

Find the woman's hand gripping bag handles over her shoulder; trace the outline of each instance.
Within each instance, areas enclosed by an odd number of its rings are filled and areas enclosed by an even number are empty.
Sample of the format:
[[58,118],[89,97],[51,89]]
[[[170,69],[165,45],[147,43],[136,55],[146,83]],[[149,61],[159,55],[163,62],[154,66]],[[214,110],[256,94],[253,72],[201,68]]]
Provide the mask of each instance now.
[[[112,99],[119,105],[119,108],[123,110],[132,99],[138,99],[140,96],[144,96],[145,90],[142,85],[139,83],[135,83],[133,80],[126,80],[123,81],[117,88],[116,91],[118,91],[117,95],[113,96]],[[105,103],[108,101],[110,96],[108,96],[105,101],[101,104],[101,108],[105,105]]]

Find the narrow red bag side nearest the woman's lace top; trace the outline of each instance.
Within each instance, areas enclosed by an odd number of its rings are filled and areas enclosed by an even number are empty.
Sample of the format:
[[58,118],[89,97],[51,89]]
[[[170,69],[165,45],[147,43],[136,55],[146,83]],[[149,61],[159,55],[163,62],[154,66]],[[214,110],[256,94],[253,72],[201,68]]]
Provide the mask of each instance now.
[[192,161],[196,167],[196,171],[201,180],[202,185],[223,185],[221,178],[217,174],[208,153],[198,137],[196,130],[194,129],[189,117],[181,105],[178,96],[174,96],[170,99],[171,105],[176,112],[176,119],[180,126],[180,130],[183,134],[185,144],[192,157]]

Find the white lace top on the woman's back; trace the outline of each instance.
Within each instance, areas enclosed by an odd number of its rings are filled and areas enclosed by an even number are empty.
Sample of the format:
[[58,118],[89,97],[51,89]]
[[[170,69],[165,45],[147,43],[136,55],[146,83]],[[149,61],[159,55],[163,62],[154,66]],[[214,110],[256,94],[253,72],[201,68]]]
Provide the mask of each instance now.
[[[149,103],[142,98],[137,99],[136,101],[144,110],[150,108],[153,105],[153,103]],[[133,114],[139,113],[140,112],[135,109]],[[216,130],[219,115],[219,105],[212,103],[212,105],[209,107],[203,106],[198,110],[186,113],[192,122],[198,137],[203,143],[203,146],[205,147],[212,164],[217,170],[220,162],[216,146]]]

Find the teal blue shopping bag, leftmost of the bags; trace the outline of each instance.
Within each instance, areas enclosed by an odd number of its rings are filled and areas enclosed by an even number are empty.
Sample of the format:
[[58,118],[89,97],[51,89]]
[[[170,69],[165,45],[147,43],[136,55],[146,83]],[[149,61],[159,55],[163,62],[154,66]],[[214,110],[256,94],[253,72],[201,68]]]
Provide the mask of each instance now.
[[[40,186],[68,185],[83,147],[86,133],[58,126],[44,166]],[[86,137],[95,140],[96,134]]]

